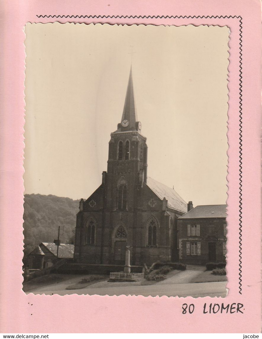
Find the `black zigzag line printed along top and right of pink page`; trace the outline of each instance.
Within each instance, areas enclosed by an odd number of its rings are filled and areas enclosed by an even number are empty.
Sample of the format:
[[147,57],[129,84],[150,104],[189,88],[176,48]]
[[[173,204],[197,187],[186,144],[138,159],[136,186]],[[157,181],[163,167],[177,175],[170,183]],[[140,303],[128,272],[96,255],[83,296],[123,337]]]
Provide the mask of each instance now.
[[242,17],[241,16],[186,16],[186,15],[37,15],[38,18],[79,18],[79,19],[239,19],[239,294],[242,294]]

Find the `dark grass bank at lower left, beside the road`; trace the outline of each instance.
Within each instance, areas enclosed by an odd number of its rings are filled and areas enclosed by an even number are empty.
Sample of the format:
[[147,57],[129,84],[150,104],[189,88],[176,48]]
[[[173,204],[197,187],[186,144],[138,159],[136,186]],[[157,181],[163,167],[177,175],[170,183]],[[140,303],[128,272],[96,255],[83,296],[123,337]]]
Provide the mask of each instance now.
[[33,288],[52,285],[56,282],[61,282],[61,281],[70,279],[72,277],[76,277],[76,275],[73,275],[73,274],[56,274],[56,273],[46,274],[46,275],[43,275],[43,276],[40,276],[40,277],[33,278],[29,281],[24,281],[23,282],[23,291],[28,292],[28,291],[31,291]]

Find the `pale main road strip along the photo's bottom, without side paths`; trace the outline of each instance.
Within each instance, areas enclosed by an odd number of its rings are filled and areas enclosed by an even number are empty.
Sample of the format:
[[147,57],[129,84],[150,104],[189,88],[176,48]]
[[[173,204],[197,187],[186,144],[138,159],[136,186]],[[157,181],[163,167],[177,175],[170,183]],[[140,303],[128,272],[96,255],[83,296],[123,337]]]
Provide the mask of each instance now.
[[[129,286],[115,286],[115,287],[96,287],[90,285],[81,290],[59,290],[59,284],[54,287],[52,285],[45,288],[39,288],[32,291],[34,294],[89,294],[89,295],[143,295],[147,296],[168,296],[168,297],[225,297],[227,295],[225,285],[227,282],[202,282],[202,283],[189,283],[189,284],[154,284],[154,285],[129,285]],[[62,287],[62,286],[61,286]]]

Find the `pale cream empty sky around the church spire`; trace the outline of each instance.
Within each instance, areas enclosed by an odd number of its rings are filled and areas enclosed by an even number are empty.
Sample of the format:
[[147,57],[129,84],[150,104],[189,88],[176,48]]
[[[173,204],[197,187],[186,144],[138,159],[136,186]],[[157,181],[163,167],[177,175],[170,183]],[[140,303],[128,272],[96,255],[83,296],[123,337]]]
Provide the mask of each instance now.
[[25,33],[25,194],[87,199],[101,184],[132,63],[148,176],[194,206],[226,203],[228,27],[56,22]]

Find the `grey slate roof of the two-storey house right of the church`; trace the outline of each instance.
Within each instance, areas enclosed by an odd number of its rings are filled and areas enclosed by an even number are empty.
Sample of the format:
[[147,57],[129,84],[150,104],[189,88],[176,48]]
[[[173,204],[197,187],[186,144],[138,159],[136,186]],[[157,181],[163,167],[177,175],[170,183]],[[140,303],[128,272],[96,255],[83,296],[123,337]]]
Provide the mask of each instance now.
[[178,219],[195,218],[225,218],[227,217],[227,205],[200,205],[196,206]]

